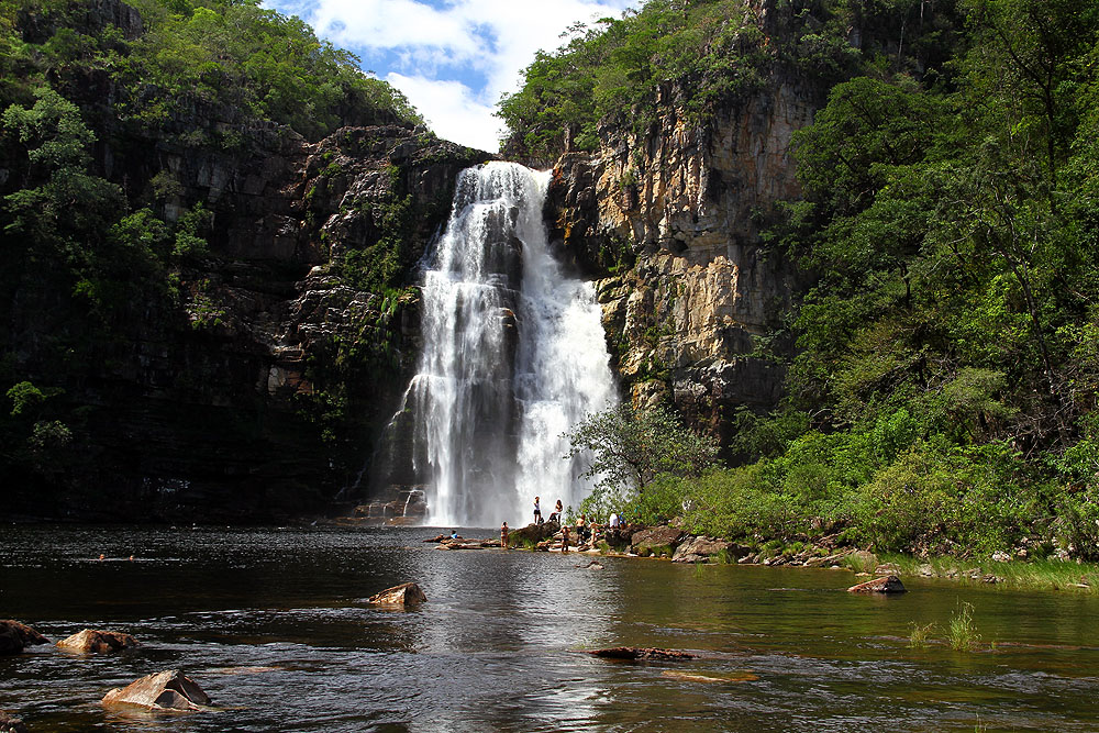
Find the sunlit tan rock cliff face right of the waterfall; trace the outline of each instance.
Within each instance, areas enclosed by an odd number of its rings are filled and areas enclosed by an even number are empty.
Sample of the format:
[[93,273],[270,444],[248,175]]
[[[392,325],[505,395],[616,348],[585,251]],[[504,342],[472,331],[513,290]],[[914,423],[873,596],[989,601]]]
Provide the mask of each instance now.
[[635,403],[670,398],[724,437],[735,408],[781,392],[774,358],[799,274],[759,240],[779,200],[799,190],[790,141],[819,92],[776,81],[702,126],[675,91],[643,134],[601,131],[595,154],[554,168],[547,218],[582,270],[600,277],[608,343]]

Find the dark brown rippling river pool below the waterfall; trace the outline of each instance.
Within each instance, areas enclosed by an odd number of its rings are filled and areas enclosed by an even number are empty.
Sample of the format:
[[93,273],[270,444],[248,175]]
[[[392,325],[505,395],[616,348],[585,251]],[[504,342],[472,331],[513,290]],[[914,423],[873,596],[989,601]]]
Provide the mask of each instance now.
[[[858,597],[846,571],[610,557],[600,570],[575,553],[440,552],[420,542],[431,534],[3,527],[0,618],[55,641],[109,628],[144,646],[0,658],[0,708],[34,733],[1099,731],[1095,597],[930,580]],[[424,588],[420,610],[366,604],[404,580]],[[941,640],[959,601],[984,651],[909,648],[911,623]],[[582,653],[617,645],[701,657]],[[167,668],[215,709],[99,704]]]

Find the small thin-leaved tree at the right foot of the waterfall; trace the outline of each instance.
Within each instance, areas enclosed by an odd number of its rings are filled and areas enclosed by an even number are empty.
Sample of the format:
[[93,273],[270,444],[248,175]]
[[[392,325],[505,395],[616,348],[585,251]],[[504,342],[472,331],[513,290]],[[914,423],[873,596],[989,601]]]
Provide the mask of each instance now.
[[685,427],[659,406],[637,410],[622,404],[593,412],[565,436],[571,446],[566,458],[591,452],[584,476],[598,479],[596,488],[603,490],[625,487],[641,492],[662,474],[699,476],[718,455],[713,438]]

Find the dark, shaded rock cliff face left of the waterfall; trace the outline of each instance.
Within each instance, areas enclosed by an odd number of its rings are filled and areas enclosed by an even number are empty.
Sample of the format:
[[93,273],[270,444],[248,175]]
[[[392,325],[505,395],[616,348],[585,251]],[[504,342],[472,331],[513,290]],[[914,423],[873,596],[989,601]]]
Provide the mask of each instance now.
[[[269,521],[357,486],[417,352],[417,291],[389,284],[410,282],[457,173],[487,157],[411,126],[309,143],[217,108],[177,125],[242,144],[108,120],[93,167],[133,208],[158,187],[167,221],[201,203],[209,252],[97,331],[46,271],[25,273],[4,303],[7,367],[51,390],[73,431],[48,462],[16,464],[12,514]],[[387,280],[371,279],[379,268]],[[58,341],[80,358],[59,364]]]

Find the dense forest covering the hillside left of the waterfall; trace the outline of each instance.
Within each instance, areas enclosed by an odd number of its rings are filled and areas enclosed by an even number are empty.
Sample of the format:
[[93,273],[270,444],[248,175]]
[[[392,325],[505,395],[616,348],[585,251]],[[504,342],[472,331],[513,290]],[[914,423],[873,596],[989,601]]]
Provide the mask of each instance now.
[[[0,2],[0,465],[13,512],[151,515],[142,501],[196,477],[275,486],[287,468],[248,479],[255,469],[241,463],[274,466],[271,440],[311,459],[336,387],[275,410],[255,386],[269,359],[262,334],[232,311],[243,302],[270,320],[269,303],[292,299],[293,282],[325,262],[328,249],[275,246],[295,203],[271,187],[309,141],[345,125],[423,130],[355,57],[258,2]],[[334,179],[348,178],[338,146],[321,157],[321,192],[298,214],[313,229]],[[249,251],[264,222],[275,231]],[[341,251],[348,281],[367,254],[359,238],[364,252]],[[314,355],[311,368],[334,358]],[[362,448],[347,452],[345,470],[358,470]],[[332,465],[314,463],[308,471]],[[199,512],[224,503],[218,490],[195,495]],[[308,484],[285,493],[299,510],[317,500]]]

